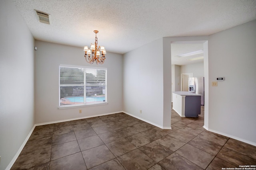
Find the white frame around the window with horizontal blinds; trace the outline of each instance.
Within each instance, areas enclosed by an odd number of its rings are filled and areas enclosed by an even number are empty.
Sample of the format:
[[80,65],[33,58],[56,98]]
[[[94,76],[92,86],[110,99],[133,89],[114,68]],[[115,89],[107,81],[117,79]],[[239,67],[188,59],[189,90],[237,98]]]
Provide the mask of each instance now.
[[[63,98],[61,98],[61,94],[64,94],[64,93],[61,93],[61,86],[67,86],[65,84],[61,84],[60,82],[60,68],[80,68],[80,69],[84,69],[84,70],[105,70],[106,73],[105,73],[105,101],[102,101],[102,102],[86,102],[86,92],[90,92],[90,90],[86,90],[86,86],[88,86],[88,84],[86,82],[89,81],[89,79],[86,81],[86,71],[84,72],[84,82],[83,84],[80,84],[82,86],[84,86],[84,102],[83,104],[62,104],[61,105],[61,100],[63,100]],[[75,85],[74,85],[75,86]],[[98,90],[98,89],[96,89]],[[74,97],[74,96],[73,96]],[[88,96],[87,96],[88,97]],[[68,109],[68,108],[75,108],[75,107],[87,107],[87,106],[99,106],[99,105],[106,105],[108,104],[107,103],[107,68],[101,68],[101,67],[88,67],[88,66],[73,66],[73,65],[62,65],[60,64],[59,66],[59,109]]]

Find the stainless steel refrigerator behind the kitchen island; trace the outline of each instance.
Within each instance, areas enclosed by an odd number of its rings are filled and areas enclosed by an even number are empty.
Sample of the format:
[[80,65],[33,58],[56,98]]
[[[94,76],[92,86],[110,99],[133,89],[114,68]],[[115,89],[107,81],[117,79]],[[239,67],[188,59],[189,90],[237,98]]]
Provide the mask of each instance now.
[[204,106],[204,77],[188,78],[188,91],[201,94],[201,105]]

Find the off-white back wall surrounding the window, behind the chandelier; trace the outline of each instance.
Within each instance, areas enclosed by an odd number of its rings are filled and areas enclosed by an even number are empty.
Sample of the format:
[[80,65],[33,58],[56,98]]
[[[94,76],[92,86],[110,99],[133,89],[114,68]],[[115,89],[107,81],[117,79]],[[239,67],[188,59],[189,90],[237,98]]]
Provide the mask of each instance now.
[[[122,111],[122,55],[107,53],[104,64],[89,64],[82,47],[35,41],[35,123],[46,123]],[[107,68],[108,105],[58,109],[59,65]],[[79,113],[79,110],[82,113]]]

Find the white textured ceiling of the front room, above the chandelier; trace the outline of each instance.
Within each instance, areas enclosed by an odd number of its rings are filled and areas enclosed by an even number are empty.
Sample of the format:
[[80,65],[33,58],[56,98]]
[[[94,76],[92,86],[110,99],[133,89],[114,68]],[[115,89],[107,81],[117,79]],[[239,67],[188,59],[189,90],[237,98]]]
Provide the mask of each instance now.
[[[13,0],[37,40],[124,54],[162,37],[210,35],[256,19],[256,0]],[[40,23],[34,10],[50,14]]]

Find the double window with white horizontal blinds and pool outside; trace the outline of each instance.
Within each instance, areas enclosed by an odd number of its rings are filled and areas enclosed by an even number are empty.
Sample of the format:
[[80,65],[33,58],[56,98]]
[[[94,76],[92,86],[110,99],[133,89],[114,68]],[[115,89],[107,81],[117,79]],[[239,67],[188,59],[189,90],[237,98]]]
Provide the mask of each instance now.
[[59,107],[106,104],[107,69],[60,65]]

